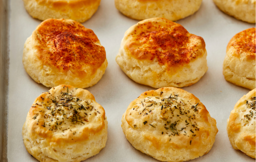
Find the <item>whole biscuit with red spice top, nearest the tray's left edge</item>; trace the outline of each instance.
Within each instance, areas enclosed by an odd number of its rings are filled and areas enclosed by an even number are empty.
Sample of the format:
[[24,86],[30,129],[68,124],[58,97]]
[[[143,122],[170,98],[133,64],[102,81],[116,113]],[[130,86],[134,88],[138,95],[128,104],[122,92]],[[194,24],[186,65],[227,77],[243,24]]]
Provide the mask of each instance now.
[[94,32],[66,19],[47,19],[38,25],[27,38],[22,61],[28,75],[46,87],[91,87],[108,65]]

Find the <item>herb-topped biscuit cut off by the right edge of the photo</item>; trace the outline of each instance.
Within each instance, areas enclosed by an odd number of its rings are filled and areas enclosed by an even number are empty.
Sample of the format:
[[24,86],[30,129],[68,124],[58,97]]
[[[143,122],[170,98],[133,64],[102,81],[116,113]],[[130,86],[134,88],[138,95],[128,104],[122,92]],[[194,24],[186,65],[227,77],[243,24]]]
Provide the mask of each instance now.
[[255,89],[244,95],[231,111],[227,132],[232,147],[255,158]]

